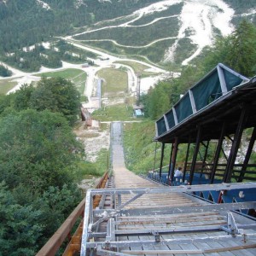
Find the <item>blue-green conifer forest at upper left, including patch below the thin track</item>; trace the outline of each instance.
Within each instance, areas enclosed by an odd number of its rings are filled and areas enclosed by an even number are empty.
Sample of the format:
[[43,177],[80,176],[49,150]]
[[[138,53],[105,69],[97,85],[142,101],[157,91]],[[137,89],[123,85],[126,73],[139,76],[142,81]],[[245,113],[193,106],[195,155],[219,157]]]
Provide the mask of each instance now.
[[[86,4],[79,4],[75,0],[46,0],[44,3],[49,4],[49,9],[45,9],[35,0],[0,1],[0,60],[25,72],[37,72],[41,66],[61,67],[61,61],[90,62],[88,58],[95,58],[95,55],[74,49],[62,40],[55,42],[55,37],[72,33],[76,27],[128,15],[154,2],[86,1]],[[52,43],[50,49],[44,48],[44,42]],[[31,45],[35,47],[29,49]],[[0,73],[0,76],[6,74]]]

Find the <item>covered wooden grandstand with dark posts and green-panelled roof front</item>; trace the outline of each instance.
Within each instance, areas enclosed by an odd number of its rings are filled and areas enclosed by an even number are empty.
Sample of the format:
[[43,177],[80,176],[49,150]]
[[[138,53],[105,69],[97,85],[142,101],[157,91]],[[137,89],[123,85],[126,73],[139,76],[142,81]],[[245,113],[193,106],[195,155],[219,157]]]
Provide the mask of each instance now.
[[[180,183],[255,181],[256,165],[250,161],[256,137],[255,99],[255,77],[247,79],[229,67],[218,64],[156,121],[154,140],[162,147],[160,168],[158,172],[154,170],[154,177],[165,179],[166,183],[175,183],[178,146],[185,143],[187,154]],[[238,151],[243,143],[241,137],[246,129],[250,137],[247,138],[244,155],[238,161]],[[231,143],[228,151],[223,148],[225,140]],[[212,162],[208,162],[208,149],[212,143],[215,150]],[[169,166],[164,172],[162,164],[168,144],[172,149]]]

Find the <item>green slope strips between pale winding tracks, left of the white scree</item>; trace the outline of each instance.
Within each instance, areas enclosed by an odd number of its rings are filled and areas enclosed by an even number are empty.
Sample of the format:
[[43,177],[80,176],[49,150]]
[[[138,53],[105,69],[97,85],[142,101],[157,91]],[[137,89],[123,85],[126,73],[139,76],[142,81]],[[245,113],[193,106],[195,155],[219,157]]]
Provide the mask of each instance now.
[[[84,35],[80,35],[76,37],[81,40],[94,40],[94,39],[112,39],[117,41],[119,44],[124,45],[146,45],[152,43],[154,40],[160,38],[168,38],[168,37],[176,37],[178,31],[178,20],[177,17],[172,15],[178,15],[181,12],[183,7],[182,3],[173,5],[171,8],[163,11],[161,13],[154,12],[153,14],[143,16],[143,18],[136,20],[131,23],[134,27],[112,27],[108,29],[104,29],[97,32],[86,33]],[[172,16],[172,17],[170,17]],[[157,22],[148,25],[148,26],[138,26],[138,25],[146,25],[148,22],[160,18],[166,17],[164,20],[158,20]],[[129,17],[130,19],[130,17]],[[118,26],[120,24],[120,20],[113,20],[112,26]],[[104,24],[101,22],[101,27],[109,26],[108,23]],[[94,27],[92,27],[93,29]],[[98,49],[103,49],[105,51],[111,52],[115,55],[129,55],[133,58],[137,58],[137,60],[153,61],[154,63],[159,63],[160,65],[166,65],[161,63],[164,59],[164,55],[166,53],[166,49],[170,47],[174,43],[175,39],[166,39],[165,41],[161,41],[155,43],[151,46],[145,48],[126,48],[116,44],[113,44],[110,41],[93,41],[93,42],[83,42],[83,44],[88,44],[92,47],[96,47]],[[82,43],[82,42],[81,42]],[[185,48],[187,49],[187,48]],[[186,55],[184,52],[186,50],[183,49],[183,55]]]

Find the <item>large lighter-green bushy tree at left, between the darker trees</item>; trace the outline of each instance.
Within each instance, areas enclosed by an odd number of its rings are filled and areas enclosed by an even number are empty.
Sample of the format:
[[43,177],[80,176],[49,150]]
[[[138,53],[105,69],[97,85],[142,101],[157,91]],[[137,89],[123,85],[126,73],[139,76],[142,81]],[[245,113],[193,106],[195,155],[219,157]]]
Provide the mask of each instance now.
[[81,145],[60,113],[28,109],[0,119],[0,181],[38,194],[72,183]]

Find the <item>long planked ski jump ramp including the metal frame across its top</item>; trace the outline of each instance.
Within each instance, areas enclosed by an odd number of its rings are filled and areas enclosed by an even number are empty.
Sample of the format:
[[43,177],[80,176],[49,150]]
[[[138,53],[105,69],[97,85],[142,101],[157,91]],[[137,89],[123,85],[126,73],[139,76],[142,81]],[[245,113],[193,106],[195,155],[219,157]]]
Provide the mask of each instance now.
[[[209,204],[189,195],[255,183],[151,183],[125,168],[121,127],[113,124],[114,188],[90,189],[86,196],[81,255],[256,255],[255,221],[234,212],[255,208],[255,202]],[[93,210],[94,195],[108,203]]]

